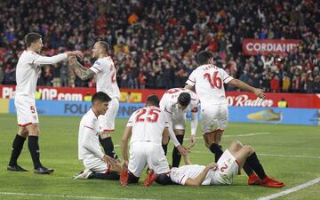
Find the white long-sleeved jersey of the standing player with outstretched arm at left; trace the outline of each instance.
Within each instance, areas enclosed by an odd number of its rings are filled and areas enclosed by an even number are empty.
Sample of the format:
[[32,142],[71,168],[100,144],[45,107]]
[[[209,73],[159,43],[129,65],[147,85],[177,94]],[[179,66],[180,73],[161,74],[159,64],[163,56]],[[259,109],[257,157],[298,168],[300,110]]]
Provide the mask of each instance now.
[[40,65],[55,64],[67,58],[67,53],[46,57],[32,51],[22,52],[16,68],[16,96],[27,95],[30,99],[35,99]]

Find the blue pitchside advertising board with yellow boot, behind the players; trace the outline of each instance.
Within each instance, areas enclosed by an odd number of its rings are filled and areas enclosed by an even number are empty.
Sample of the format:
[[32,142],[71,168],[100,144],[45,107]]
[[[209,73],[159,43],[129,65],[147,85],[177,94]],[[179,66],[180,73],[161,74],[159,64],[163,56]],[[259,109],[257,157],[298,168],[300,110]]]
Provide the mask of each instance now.
[[[8,103],[0,101],[0,105],[4,112],[7,110],[10,114],[16,113],[14,100],[9,100]],[[4,108],[5,105],[9,109]],[[128,118],[135,110],[144,106],[143,103],[120,103],[116,117]],[[90,108],[91,102],[86,101],[36,100],[40,116],[84,116]],[[229,107],[228,111],[228,121],[238,123],[319,125],[320,120],[320,109],[316,108]]]

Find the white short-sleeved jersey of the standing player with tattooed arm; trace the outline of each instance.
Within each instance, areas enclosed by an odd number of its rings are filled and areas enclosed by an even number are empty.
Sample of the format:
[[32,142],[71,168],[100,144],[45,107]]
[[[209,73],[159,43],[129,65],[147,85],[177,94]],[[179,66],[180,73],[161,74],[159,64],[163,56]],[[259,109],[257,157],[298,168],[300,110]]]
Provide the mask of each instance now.
[[108,56],[98,59],[90,68],[97,75],[97,92],[105,92],[110,98],[120,98],[120,90],[116,84],[116,68]]

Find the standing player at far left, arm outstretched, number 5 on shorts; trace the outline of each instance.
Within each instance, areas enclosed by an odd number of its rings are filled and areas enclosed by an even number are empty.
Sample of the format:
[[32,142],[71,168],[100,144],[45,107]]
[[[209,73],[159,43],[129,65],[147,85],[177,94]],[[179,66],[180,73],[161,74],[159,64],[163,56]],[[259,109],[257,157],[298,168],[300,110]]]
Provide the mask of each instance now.
[[19,125],[18,134],[13,140],[12,156],[7,170],[16,172],[27,172],[28,170],[17,164],[23,144],[28,137],[28,149],[34,164],[34,172],[39,174],[52,173],[40,162],[39,119],[36,112],[36,82],[39,76],[41,65],[55,64],[66,60],[70,56],[82,58],[84,54],[79,51],[65,52],[52,57],[41,56],[41,49],[44,47],[42,36],[36,33],[28,33],[25,36],[27,50],[22,52],[16,68],[16,94],[14,105],[17,109],[17,120]]

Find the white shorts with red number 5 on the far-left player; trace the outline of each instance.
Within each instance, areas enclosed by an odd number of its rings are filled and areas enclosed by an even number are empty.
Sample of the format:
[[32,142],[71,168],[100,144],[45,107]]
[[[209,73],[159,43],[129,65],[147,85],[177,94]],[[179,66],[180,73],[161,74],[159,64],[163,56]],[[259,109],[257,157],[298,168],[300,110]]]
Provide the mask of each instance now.
[[19,95],[14,98],[14,105],[17,109],[17,121],[19,126],[39,123],[39,117],[36,112],[36,100],[25,95]]

